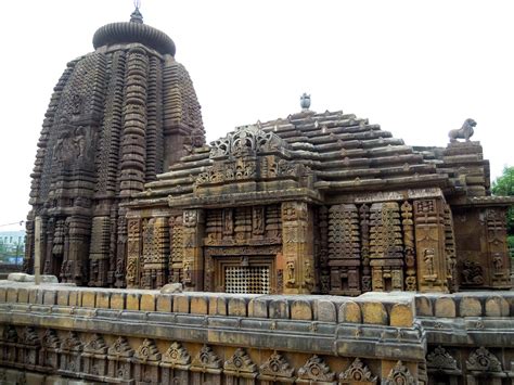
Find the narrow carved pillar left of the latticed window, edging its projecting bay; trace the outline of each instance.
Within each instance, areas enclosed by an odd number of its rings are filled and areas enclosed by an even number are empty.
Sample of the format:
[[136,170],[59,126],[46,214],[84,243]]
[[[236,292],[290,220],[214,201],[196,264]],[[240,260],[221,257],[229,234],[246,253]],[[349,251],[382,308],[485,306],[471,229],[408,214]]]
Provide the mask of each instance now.
[[182,283],[187,291],[204,288],[204,211],[201,209],[184,210],[183,217],[183,268]]

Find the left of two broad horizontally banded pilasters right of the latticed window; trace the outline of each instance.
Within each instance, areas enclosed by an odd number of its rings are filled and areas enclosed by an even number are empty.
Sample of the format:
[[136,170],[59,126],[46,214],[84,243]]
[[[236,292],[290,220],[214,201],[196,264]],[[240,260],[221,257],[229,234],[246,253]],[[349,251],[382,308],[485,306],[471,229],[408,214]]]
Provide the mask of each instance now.
[[360,238],[357,206],[333,205],[329,210],[331,294],[360,294]]

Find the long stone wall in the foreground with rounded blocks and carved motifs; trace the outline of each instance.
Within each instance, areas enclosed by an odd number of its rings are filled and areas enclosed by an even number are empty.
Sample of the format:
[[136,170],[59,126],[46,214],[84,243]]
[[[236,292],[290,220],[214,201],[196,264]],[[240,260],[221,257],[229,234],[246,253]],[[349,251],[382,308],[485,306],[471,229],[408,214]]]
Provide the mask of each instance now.
[[350,298],[0,281],[0,380],[514,383],[513,315],[512,292]]

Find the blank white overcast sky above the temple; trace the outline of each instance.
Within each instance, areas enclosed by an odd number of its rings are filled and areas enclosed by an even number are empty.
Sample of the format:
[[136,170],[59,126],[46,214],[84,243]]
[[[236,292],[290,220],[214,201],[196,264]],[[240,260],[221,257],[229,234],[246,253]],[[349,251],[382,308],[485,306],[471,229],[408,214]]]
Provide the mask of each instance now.
[[[2,3],[0,224],[25,219],[36,143],[66,63],[131,0]],[[514,2],[142,0],[194,81],[207,140],[299,111],[354,113],[410,145],[477,123],[492,176],[513,165]],[[20,227],[0,227],[0,231]]]

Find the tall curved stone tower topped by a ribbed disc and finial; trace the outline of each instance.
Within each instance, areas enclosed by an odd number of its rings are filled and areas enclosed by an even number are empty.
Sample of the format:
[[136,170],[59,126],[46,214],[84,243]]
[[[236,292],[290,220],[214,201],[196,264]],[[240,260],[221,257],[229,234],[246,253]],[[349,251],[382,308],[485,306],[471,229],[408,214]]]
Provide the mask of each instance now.
[[200,104],[175,43],[142,22],[108,24],[94,52],[66,66],[50,100],[34,168],[34,218],[42,220],[43,272],[63,282],[125,286],[126,211],[120,206],[202,145]]

